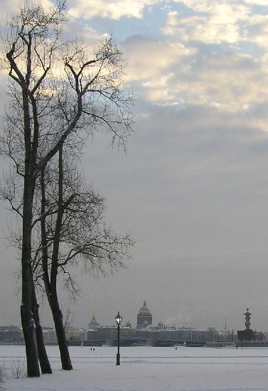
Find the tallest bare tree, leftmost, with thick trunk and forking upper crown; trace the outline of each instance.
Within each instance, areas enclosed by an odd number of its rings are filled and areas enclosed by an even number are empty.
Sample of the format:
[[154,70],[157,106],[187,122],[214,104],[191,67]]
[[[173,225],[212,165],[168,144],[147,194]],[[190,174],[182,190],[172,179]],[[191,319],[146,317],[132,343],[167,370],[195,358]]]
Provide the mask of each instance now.
[[[33,203],[38,175],[73,132],[81,136],[105,127],[124,148],[132,117],[132,97],[122,90],[122,53],[107,38],[96,45],[63,42],[65,1],[46,10],[19,8],[2,37],[9,75],[9,107],[1,151],[21,179],[21,323],[28,377],[39,376],[33,320]],[[12,200],[11,200],[12,202]]]

